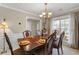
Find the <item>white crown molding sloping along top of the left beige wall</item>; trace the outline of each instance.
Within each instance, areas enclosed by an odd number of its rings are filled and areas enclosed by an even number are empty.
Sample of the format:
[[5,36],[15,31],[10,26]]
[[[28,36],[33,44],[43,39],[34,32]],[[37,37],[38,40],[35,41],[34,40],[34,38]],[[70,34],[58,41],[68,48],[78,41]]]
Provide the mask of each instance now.
[[18,8],[9,7],[9,6],[3,5],[1,3],[0,3],[0,6],[8,8],[8,9],[11,9],[11,10],[14,10],[14,11],[19,11],[19,12],[22,12],[22,13],[25,13],[25,14],[28,14],[28,15],[31,15],[31,16],[39,18],[37,14],[31,13],[31,12],[27,12],[27,11],[24,11],[24,10],[21,10],[21,9],[18,9]]

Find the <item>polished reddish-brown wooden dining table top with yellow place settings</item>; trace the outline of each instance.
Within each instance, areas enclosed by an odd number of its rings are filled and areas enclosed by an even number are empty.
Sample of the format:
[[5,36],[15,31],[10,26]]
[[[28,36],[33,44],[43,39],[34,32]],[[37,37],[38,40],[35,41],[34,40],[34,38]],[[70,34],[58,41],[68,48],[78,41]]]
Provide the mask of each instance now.
[[39,49],[40,47],[44,46],[46,40],[47,37],[29,36],[27,38],[18,39],[18,44],[25,52],[30,52],[34,49]]

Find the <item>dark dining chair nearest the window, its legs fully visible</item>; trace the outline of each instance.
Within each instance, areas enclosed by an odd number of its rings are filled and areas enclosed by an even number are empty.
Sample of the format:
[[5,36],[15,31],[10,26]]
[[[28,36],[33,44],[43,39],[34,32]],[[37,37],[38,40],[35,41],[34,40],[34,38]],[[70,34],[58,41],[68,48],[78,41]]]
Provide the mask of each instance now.
[[57,49],[58,55],[60,54],[60,52],[59,52],[59,49],[60,49],[60,48],[61,48],[61,52],[62,52],[62,54],[63,54],[62,42],[63,42],[63,39],[64,39],[64,35],[65,35],[65,32],[63,31],[63,32],[60,34],[60,37],[59,37],[57,40],[54,40],[54,41],[53,41],[52,47]]

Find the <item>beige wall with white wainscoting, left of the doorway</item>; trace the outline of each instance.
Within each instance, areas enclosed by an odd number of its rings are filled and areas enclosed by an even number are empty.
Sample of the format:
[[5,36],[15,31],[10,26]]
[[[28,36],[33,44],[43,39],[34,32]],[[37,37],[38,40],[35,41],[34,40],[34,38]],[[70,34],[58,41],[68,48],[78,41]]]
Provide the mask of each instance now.
[[[9,26],[6,32],[9,35],[10,41],[12,42],[12,46],[14,47],[13,49],[19,47],[17,39],[23,37],[22,32],[28,28],[27,19],[30,17],[33,16],[0,6],[0,21],[2,21],[4,18],[6,19],[6,23]],[[34,18],[38,19],[37,17]],[[21,22],[21,25],[18,24],[19,22]],[[1,32],[2,29],[0,29],[0,50],[3,48],[3,35]]]

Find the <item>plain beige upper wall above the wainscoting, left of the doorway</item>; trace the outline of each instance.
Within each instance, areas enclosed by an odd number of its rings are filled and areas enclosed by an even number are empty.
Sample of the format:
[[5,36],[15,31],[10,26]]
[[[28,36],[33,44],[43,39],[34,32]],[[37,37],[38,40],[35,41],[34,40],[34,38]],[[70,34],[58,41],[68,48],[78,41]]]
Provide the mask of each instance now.
[[[22,32],[26,26],[26,14],[0,7],[0,17],[6,19],[9,28],[13,32]],[[21,22],[22,25],[18,25]]]

